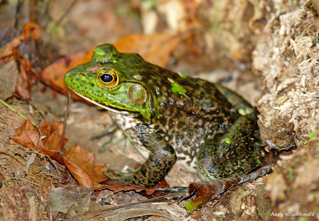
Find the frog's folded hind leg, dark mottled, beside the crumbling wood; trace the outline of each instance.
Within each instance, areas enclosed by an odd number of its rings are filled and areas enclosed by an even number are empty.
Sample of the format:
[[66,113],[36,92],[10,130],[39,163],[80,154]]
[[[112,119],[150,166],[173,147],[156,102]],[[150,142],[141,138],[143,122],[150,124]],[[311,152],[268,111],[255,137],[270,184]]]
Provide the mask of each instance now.
[[197,154],[201,180],[214,180],[249,173],[261,163],[257,117],[240,116],[227,131],[206,140]]

